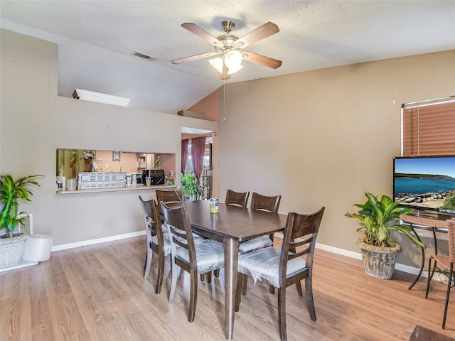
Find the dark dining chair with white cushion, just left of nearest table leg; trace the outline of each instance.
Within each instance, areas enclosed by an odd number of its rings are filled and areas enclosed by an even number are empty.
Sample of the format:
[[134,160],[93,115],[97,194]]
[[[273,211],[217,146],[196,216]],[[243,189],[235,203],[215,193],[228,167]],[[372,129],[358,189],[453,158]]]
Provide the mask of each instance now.
[[191,224],[186,207],[171,208],[161,202],[161,209],[171,234],[172,279],[168,301],[172,302],[173,295],[176,292],[178,266],[190,274],[188,321],[193,322],[198,298],[198,274],[205,274],[224,267],[223,243],[216,242],[213,239],[204,239],[196,244],[193,233],[191,233]]

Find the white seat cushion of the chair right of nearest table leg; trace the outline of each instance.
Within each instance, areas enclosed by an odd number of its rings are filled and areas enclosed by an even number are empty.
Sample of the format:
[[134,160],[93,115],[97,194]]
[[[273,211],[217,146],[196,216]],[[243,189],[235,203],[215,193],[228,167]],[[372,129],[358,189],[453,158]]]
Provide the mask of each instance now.
[[[278,247],[266,247],[239,256],[238,271],[251,276],[257,281],[268,281],[272,286],[280,288],[279,283],[279,256],[282,249]],[[305,269],[306,261],[300,257],[291,259],[287,263],[286,275]]]

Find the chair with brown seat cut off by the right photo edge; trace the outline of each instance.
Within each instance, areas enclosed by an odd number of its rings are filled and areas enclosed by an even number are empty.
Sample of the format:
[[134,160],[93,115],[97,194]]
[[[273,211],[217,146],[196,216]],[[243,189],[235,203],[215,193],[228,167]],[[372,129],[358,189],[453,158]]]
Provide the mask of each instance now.
[[[446,293],[446,304],[444,305],[444,315],[442,318],[442,329],[446,328],[446,316],[447,307],[449,306],[449,295],[452,283],[455,284],[455,220],[446,220],[447,223],[447,240],[449,242],[449,256],[443,254],[432,254],[428,260],[428,281],[427,291],[425,292],[425,298],[428,298],[429,283],[432,281],[435,271],[445,272],[449,271],[449,277],[447,278],[447,293]],[[432,260],[434,261],[432,269]],[[437,264],[439,263],[439,266]],[[431,271],[431,274],[430,274]]]

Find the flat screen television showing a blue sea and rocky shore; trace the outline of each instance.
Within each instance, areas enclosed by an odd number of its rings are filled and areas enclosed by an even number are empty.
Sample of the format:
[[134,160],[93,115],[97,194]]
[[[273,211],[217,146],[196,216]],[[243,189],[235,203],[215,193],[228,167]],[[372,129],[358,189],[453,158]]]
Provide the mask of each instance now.
[[455,156],[397,156],[393,159],[395,202],[419,210],[440,210],[446,197],[454,194]]

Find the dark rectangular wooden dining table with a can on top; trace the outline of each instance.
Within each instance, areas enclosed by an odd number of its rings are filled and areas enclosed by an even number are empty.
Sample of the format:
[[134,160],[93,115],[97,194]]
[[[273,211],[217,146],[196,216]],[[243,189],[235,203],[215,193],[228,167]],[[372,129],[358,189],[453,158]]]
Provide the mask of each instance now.
[[218,212],[210,212],[208,200],[185,201],[184,205],[196,234],[223,242],[225,256],[225,336],[231,340],[234,331],[235,292],[239,244],[255,237],[282,232],[287,215],[250,208],[218,204]]

